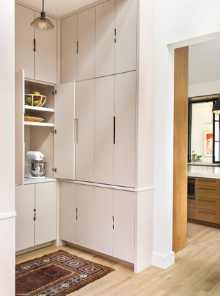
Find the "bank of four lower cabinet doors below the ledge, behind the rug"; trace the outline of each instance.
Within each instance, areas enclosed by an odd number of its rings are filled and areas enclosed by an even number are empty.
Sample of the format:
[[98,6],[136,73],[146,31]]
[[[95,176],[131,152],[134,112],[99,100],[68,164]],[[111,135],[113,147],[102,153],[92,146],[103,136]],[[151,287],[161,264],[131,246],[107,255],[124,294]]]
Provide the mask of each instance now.
[[61,225],[62,240],[134,262],[134,192],[61,182]]

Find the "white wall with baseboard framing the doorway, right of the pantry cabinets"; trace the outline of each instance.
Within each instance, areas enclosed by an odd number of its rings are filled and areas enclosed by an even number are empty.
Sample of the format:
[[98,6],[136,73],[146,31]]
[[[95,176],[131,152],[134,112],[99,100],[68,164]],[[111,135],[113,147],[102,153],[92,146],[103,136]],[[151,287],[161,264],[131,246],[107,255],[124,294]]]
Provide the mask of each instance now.
[[[173,49],[217,38],[219,0],[155,0],[155,196],[153,264],[173,263]],[[211,34],[211,35],[209,35]],[[205,36],[206,35],[206,36]],[[187,40],[187,41],[186,41]],[[185,42],[186,41],[186,42]]]

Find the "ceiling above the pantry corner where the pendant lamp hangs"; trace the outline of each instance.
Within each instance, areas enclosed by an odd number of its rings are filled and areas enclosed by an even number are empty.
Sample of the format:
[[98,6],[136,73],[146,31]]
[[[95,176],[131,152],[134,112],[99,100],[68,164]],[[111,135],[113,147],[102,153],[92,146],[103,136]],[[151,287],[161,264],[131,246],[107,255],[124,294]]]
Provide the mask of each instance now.
[[[21,0],[23,3],[42,8],[42,0]],[[85,5],[95,2],[95,0],[45,0],[45,12],[50,12],[56,16],[63,16],[68,12],[82,8]]]

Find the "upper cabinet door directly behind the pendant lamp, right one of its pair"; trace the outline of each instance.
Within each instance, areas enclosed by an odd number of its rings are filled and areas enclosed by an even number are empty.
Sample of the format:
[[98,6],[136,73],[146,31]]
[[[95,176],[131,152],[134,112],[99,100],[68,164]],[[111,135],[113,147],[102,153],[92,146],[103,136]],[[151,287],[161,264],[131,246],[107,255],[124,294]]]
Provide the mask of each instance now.
[[[35,17],[39,17],[35,12]],[[57,78],[57,25],[56,19],[47,16],[54,25],[52,30],[35,30],[35,79],[44,82],[56,83]]]

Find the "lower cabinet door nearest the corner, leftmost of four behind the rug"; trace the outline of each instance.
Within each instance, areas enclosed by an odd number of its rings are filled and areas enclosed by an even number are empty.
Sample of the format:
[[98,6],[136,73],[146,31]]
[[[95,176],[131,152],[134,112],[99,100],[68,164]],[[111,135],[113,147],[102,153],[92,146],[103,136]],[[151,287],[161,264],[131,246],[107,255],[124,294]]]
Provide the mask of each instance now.
[[76,244],[76,184],[61,182],[61,240]]

